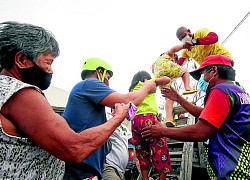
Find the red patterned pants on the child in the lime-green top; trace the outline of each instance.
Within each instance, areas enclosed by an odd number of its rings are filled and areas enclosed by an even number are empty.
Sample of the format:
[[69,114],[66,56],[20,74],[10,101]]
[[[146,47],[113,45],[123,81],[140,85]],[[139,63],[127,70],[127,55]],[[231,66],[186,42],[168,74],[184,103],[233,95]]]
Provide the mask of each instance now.
[[154,114],[136,115],[131,123],[132,142],[135,145],[141,170],[148,170],[153,165],[158,173],[168,173],[172,171],[172,166],[167,139],[164,137],[145,141],[141,136],[142,129],[155,124],[156,121],[160,122],[160,119]]

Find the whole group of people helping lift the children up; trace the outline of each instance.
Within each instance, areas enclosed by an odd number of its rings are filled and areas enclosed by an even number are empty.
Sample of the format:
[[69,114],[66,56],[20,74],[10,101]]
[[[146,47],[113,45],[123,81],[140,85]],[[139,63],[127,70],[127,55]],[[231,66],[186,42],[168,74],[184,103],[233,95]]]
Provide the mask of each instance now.
[[[168,137],[209,139],[211,179],[250,179],[250,97],[236,81],[234,59],[207,28],[191,33],[180,27],[176,36],[182,44],[161,55],[160,63],[157,59],[155,77],[139,71],[126,94],[109,87],[113,70],[106,61],[86,59],[82,80],[72,88],[60,116],[43,93],[51,83],[51,65],[60,54],[56,38],[36,25],[0,23],[0,178],[123,180],[127,154],[119,164],[118,138],[124,149],[127,141],[135,145],[143,179],[149,179],[152,165],[159,179],[166,179],[172,170]],[[172,50],[176,47],[182,55],[175,63]],[[199,67],[188,73],[181,65],[189,58]],[[169,68],[172,65],[179,68],[178,73]],[[170,71],[177,75],[171,76]],[[206,93],[204,107],[190,103],[171,87],[171,79],[182,77],[184,94],[195,93],[189,87],[190,75]],[[166,127],[158,117],[157,86],[166,102],[179,103],[198,118],[197,123]],[[106,107],[112,109],[108,118]],[[171,108],[172,104],[166,105],[166,120],[175,126]],[[132,115],[131,136],[124,134],[122,126],[128,115]]]

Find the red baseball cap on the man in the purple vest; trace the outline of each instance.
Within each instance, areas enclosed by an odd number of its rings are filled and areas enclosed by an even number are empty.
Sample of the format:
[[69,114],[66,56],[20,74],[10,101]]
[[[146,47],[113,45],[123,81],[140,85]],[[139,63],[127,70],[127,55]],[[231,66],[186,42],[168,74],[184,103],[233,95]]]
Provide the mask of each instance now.
[[204,61],[201,63],[198,69],[195,69],[189,73],[194,79],[199,80],[201,76],[200,71],[206,68],[207,66],[213,66],[213,65],[223,65],[232,67],[233,60],[221,54],[210,55],[204,59]]

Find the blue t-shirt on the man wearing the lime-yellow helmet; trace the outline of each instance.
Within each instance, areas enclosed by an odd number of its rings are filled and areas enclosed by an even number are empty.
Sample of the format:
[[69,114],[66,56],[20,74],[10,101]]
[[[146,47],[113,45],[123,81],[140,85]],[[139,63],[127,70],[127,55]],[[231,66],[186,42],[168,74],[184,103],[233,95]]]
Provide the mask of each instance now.
[[[70,92],[63,114],[69,126],[77,133],[107,122],[105,106],[99,104],[106,96],[115,92],[105,83],[95,78],[89,78],[77,83]],[[66,163],[65,174],[76,178],[98,176],[105,161],[106,144],[82,163]]]

